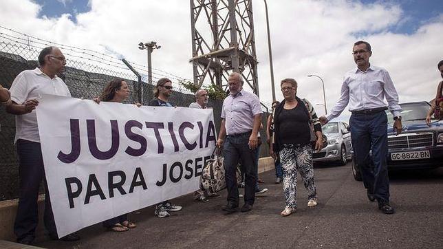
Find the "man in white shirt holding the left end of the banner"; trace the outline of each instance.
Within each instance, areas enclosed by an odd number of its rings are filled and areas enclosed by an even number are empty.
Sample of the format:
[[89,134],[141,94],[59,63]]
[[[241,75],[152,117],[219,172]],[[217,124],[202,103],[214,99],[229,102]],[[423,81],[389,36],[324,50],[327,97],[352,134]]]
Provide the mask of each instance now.
[[[51,239],[58,239],[52,214],[50,195],[47,190],[45,168],[41,154],[39,127],[35,108],[42,94],[53,94],[70,97],[66,84],[57,76],[65,69],[66,58],[58,47],[45,47],[39,54],[39,64],[33,70],[21,72],[10,88],[10,105],[6,111],[15,117],[15,143],[19,156],[20,197],[17,217],[14,222],[14,234],[17,242],[30,244],[35,239],[35,230],[39,221],[37,198],[39,185],[45,184],[45,213],[43,221]],[[76,241],[78,235],[62,237],[63,241]]]

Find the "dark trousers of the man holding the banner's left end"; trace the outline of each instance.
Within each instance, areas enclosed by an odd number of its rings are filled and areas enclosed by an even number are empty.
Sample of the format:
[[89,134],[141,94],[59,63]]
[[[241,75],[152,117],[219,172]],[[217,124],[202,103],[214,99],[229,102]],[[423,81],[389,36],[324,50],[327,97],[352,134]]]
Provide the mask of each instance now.
[[45,228],[51,237],[57,236],[57,230],[52,214],[50,195],[47,191],[45,168],[39,142],[28,140],[17,141],[17,153],[19,155],[20,192],[19,207],[14,223],[14,234],[17,241],[34,240],[35,229],[39,222],[37,198],[39,186],[43,180],[45,184],[45,213],[43,220]]

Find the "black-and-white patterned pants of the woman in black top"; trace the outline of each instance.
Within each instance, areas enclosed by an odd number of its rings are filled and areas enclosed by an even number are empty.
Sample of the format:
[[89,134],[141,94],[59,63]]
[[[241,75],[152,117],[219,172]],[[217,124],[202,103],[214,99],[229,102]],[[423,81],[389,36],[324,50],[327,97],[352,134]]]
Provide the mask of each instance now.
[[297,207],[297,170],[305,184],[307,199],[315,199],[317,193],[314,183],[311,145],[283,144],[279,154],[283,168],[283,194],[285,195],[286,206],[290,208]]

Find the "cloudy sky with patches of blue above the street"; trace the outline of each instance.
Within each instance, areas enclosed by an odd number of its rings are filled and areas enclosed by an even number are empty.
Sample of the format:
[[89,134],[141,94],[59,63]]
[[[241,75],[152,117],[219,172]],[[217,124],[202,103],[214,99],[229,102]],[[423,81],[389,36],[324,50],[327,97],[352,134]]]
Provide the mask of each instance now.
[[[354,69],[352,45],[371,43],[371,64],[385,67],[400,102],[432,100],[442,80],[441,0],[268,0],[277,100],[279,82],[295,78],[298,96],[319,115],[340,96],[343,75]],[[32,36],[123,56],[146,65],[138,43],[157,41],[153,67],[193,78],[191,10],[187,0],[2,0],[0,25]],[[263,1],[252,1],[260,99],[272,102],[266,17]],[[17,18],[20,17],[20,18]],[[319,105],[317,105],[319,104]],[[343,119],[349,112],[343,113]]]

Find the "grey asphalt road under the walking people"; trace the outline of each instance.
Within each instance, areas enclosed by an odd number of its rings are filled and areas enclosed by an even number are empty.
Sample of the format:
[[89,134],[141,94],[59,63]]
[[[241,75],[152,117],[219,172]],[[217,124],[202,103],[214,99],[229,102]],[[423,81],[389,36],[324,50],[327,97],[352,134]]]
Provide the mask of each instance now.
[[[296,213],[281,217],[285,203],[274,171],[260,175],[269,189],[257,196],[249,213],[224,214],[222,197],[206,203],[191,196],[173,202],[183,206],[171,217],[154,217],[153,207],[129,217],[138,227],[107,232],[100,224],[80,230],[80,241],[43,241],[45,248],[442,248],[443,167],[432,171],[390,173],[393,215],[369,202],[351,165],[314,169],[318,206],[307,208],[298,183]],[[300,178],[300,177],[299,177]],[[241,200],[240,205],[243,204]]]

